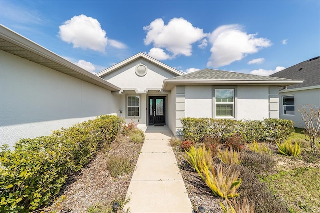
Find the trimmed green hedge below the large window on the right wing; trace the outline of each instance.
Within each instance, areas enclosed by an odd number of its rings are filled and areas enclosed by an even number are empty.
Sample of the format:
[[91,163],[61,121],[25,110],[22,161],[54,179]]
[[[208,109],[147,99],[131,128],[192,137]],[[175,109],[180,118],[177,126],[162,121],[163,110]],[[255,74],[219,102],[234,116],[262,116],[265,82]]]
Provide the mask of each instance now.
[[181,118],[183,140],[202,141],[205,135],[220,137],[222,141],[241,135],[246,142],[280,141],[294,131],[294,122],[283,119],[230,120],[213,118]]

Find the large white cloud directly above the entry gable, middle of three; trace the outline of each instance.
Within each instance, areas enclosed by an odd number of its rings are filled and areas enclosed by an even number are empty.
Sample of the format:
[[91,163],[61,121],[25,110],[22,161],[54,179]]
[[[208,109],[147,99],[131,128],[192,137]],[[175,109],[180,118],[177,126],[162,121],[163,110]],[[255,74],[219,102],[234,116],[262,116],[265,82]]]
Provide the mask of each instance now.
[[203,29],[194,27],[183,18],[173,18],[167,25],[158,18],[144,26],[143,30],[147,32],[144,44],[152,43],[154,48],[165,49],[168,52],[166,55],[172,55],[167,59],[177,55],[191,56],[192,44],[207,36]]

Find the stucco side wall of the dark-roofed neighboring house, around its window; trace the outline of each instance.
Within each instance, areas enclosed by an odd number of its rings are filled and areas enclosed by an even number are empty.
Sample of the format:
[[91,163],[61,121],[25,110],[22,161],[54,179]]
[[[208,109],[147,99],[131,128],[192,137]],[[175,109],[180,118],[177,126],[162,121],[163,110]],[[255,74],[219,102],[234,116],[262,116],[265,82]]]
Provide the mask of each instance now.
[[[294,96],[294,115],[283,114],[283,96]],[[318,105],[320,106],[320,88],[280,92],[280,118],[292,120],[295,127],[304,128],[304,122],[301,119],[301,113],[298,111],[303,105]]]

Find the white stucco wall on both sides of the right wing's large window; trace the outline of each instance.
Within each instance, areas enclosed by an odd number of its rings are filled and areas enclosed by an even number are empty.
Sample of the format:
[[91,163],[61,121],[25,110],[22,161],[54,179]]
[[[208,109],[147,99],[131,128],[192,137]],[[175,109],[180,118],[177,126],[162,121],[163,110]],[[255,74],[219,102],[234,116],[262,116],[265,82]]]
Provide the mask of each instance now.
[[235,119],[269,118],[268,86],[185,86],[185,117],[214,117],[212,115],[215,111],[215,106],[212,105],[214,88],[235,88]]

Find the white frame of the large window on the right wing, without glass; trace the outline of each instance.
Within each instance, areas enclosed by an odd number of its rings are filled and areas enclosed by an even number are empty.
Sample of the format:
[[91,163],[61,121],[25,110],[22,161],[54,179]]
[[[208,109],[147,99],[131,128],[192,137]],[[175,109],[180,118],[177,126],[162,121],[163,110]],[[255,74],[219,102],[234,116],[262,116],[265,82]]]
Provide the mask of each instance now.
[[[222,89],[222,90],[233,90],[233,102],[231,103],[217,103],[216,102],[216,90],[217,89]],[[213,107],[212,107],[212,115],[213,115],[213,118],[215,119],[233,119],[233,120],[236,120],[237,119],[237,108],[236,108],[236,105],[237,105],[237,87],[236,86],[228,86],[228,87],[225,87],[225,86],[213,86]],[[233,106],[233,111],[232,111],[232,116],[217,116],[216,115],[216,105],[219,105],[219,104],[232,104]]]

